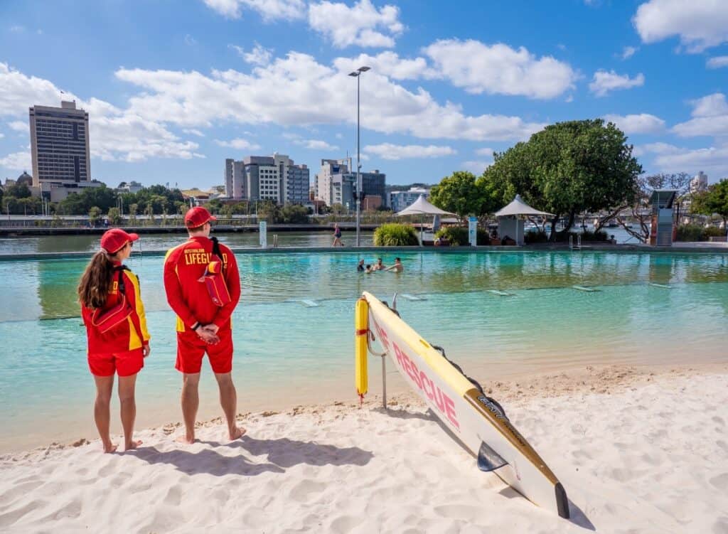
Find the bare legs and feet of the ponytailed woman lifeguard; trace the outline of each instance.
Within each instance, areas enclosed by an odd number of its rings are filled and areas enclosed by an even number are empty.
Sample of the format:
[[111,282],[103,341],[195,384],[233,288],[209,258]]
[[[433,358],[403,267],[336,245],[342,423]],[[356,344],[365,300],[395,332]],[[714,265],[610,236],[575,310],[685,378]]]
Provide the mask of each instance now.
[[[98,428],[98,435],[103,443],[103,452],[116,451],[116,444],[111,443],[109,424],[111,421],[111,390],[114,389],[114,375],[110,377],[94,377],[96,382],[96,401],[93,406],[93,417]],[[119,401],[122,404],[122,426],[124,427],[124,450],[135,449],[141,441],[133,441],[136,403],[134,386],[136,374],[130,377],[119,377]]]

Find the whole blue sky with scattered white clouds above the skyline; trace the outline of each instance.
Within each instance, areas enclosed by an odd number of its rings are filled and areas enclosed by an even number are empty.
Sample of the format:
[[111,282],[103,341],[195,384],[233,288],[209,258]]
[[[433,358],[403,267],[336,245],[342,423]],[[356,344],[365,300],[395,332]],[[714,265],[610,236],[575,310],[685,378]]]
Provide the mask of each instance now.
[[223,183],[223,160],[356,152],[390,184],[480,174],[544,125],[606,117],[647,172],[728,176],[728,1],[0,2],[0,178],[28,107],[90,113],[92,177]]

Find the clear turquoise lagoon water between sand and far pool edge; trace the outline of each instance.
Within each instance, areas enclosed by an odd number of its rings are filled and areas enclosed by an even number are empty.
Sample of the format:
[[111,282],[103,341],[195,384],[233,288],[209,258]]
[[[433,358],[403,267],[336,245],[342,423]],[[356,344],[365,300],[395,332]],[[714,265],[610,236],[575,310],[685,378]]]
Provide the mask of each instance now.
[[[386,264],[392,262],[389,256],[384,256]],[[403,318],[484,380],[593,362],[726,358],[725,254],[400,256],[405,272],[362,275],[355,272],[359,256],[350,252],[239,254],[242,302],[233,316],[239,411],[353,400],[353,305],[362,291],[390,302],[395,292],[418,297],[397,300]],[[0,310],[0,450],[95,435],[85,330],[74,303],[84,264],[0,264],[5,303]],[[178,420],[181,378],[173,369],[175,318],[162,288],[162,257],[135,258],[129,265],[141,279],[152,335],[152,353],[138,378],[138,426]],[[599,291],[577,291],[574,285]],[[376,392],[379,364],[371,368]],[[391,380],[396,389],[397,378]],[[205,366],[201,416],[218,415],[216,402]]]

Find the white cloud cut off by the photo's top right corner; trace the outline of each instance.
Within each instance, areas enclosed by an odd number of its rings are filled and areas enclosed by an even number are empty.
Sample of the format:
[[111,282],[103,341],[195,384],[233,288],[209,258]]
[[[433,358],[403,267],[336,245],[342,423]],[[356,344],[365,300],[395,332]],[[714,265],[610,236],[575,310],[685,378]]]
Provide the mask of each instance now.
[[725,0],[649,0],[632,19],[643,42],[680,36],[688,52],[702,52],[728,41]]

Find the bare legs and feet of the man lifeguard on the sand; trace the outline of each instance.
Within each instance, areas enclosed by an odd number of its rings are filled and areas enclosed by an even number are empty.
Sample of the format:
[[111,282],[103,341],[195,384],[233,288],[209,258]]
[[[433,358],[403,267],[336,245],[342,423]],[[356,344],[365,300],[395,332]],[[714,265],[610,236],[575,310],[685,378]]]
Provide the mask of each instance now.
[[[245,433],[245,429],[237,428],[235,425],[235,412],[237,409],[237,392],[232,382],[230,373],[215,373],[220,389],[220,404],[228,425],[229,439],[238,439]],[[180,436],[178,441],[183,443],[194,443],[194,423],[197,418],[199,407],[199,373],[183,374],[182,378],[182,417],[184,418],[185,435]]]

